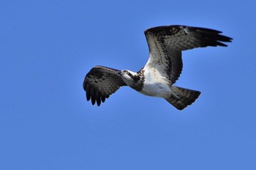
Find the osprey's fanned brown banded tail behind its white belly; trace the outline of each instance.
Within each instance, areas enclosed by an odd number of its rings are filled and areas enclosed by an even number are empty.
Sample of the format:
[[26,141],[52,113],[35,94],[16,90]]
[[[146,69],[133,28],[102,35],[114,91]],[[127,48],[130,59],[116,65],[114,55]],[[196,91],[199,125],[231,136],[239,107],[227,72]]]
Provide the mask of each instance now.
[[170,98],[165,98],[173,107],[181,110],[192,104],[200,95],[200,91],[197,90],[189,90],[187,88],[179,88],[176,86],[170,86],[170,89],[173,91],[172,96]]

